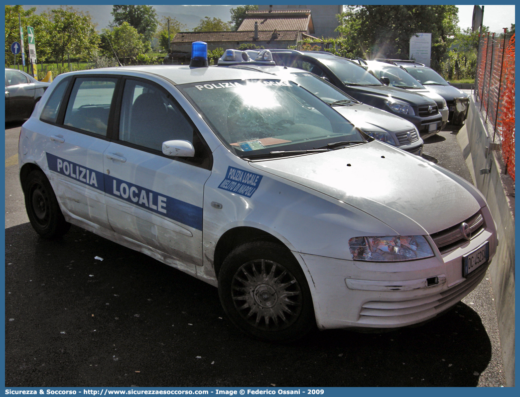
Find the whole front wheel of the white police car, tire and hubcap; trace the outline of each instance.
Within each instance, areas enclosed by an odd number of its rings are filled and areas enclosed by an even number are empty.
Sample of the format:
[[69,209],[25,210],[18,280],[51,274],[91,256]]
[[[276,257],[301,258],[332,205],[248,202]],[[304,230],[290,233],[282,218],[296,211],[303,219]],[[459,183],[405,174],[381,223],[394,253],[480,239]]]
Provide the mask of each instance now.
[[231,322],[254,338],[287,342],[316,329],[305,275],[280,244],[252,242],[233,249],[218,274],[218,295]]

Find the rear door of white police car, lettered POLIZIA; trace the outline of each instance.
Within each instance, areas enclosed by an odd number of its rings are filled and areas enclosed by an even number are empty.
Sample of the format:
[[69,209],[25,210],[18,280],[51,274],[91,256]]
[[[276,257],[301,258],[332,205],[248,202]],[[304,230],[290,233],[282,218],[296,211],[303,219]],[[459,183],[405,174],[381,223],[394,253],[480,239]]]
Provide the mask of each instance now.
[[109,145],[107,131],[118,81],[92,75],[62,81],[41,115],[49,124],[45,151],[56,196],[69,216],[105,228],[110,225],[103,152]]

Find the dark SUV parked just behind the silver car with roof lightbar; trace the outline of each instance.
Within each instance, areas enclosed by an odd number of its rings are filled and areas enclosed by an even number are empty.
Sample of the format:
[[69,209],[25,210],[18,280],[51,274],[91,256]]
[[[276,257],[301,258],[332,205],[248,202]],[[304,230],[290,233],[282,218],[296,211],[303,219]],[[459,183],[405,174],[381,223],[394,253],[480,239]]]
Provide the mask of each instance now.
[[355,62],[329,52],[270,50],[279,65],[310,71],[332,83],[360,102],[405,118],[426,139],[443,125],[434,100],[415,92],[383,85]]

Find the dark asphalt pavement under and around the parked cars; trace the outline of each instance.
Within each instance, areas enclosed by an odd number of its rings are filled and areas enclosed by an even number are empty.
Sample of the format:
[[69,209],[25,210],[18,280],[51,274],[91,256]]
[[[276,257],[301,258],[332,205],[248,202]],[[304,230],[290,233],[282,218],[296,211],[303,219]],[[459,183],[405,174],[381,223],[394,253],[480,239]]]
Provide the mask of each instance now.
[[[41,239],[18,182],[19,128],[6,124],[6,387],[505,386],[489,276],[422,326],[251,340],[194,277],[74,226]],[[471,181],[457,130],[424,157]]]

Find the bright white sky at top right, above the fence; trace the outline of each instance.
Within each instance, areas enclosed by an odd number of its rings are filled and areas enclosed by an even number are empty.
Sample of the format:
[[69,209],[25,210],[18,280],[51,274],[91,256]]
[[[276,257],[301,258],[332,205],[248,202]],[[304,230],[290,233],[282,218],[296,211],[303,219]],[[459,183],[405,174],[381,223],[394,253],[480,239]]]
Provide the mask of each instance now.
[[[459,7],[459,27],[461,29],[471,28],[473,6],[458,5],[457,7]],[[484,5],[483,24],[489,27],[491,33],[503,33],[502,28],[509,29],[512,23],[515,23],[514,5]]]

